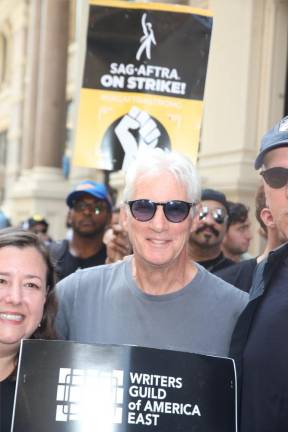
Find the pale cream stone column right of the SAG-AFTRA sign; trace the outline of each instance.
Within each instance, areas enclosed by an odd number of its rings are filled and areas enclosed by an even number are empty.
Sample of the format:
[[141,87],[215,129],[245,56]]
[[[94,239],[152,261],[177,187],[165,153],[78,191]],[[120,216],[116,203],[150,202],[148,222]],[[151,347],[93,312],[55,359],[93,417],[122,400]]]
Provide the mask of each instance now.
[[[262,135],[283,115],[288,1],[211,0],[214,27],[199,168],[205,186],[254,213],[254,160]],[[254,219],[254,218],[253,218]],[[257,253],[256,235],[251,252]]]

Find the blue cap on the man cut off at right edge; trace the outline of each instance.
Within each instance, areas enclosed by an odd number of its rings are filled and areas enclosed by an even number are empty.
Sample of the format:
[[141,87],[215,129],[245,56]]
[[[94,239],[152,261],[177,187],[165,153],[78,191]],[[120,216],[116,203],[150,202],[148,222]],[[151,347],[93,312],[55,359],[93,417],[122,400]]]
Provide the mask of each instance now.
[[255,160],[255,169],[261,168],[266,153],[277,147],[288,147],[288,116],[284,117],[262,138],[260,152]]

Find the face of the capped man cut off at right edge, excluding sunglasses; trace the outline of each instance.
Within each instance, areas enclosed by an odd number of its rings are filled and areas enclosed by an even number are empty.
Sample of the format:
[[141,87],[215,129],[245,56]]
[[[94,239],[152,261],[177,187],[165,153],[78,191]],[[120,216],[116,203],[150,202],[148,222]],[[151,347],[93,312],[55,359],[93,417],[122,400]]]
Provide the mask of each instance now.
[[[288,146],[271,150],[265,156],[263,171],[275,167],[288,168]],[[279,233],[288,240],[288,185],[275,189],[263,181],[267,207]]]

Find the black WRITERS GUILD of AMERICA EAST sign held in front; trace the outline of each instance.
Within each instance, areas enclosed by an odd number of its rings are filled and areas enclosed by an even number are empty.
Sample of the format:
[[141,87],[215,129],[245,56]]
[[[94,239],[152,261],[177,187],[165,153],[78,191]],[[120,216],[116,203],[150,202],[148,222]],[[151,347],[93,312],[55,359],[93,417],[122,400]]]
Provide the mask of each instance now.
[[228,358],[26,340],[13,432],[236,432]]

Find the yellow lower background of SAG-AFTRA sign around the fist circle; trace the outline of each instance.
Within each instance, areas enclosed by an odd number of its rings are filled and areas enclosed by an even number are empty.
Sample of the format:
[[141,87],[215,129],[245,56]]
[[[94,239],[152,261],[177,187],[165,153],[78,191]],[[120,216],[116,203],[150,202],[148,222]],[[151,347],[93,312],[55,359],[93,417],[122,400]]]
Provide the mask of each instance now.
[[[167,96],[82,89],[74,163],[102,169],[101,143],[108,127],[132,106],[149,112],[166,129],[172,149],[197,158],[203,102]],[[84,151],[85,148],[85,151]]]

